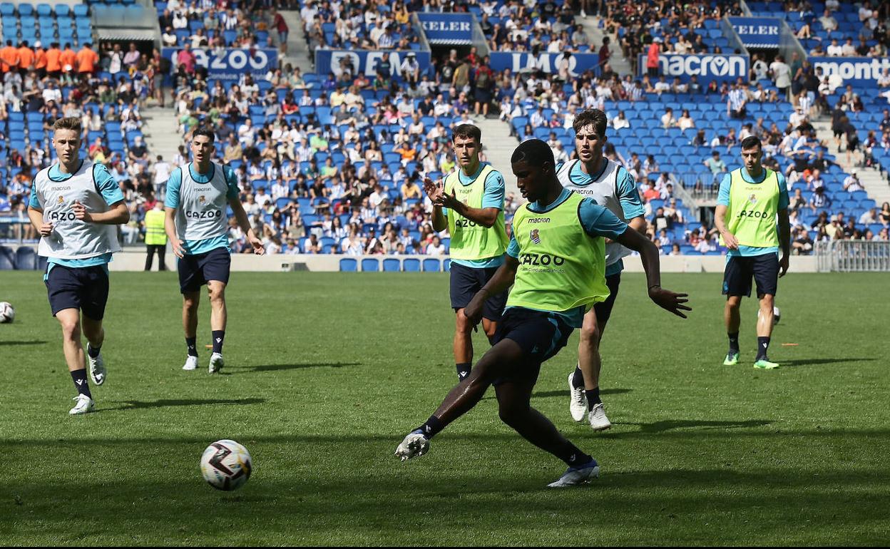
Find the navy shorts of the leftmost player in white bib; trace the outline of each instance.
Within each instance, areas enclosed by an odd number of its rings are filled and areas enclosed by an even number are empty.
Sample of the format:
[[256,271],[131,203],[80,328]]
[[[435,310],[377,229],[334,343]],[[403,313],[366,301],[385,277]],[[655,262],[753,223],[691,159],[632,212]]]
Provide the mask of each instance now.
[[109,300],[109,273],[105,265],[66,267],[46,265],[44,283],[53,317],[64,309],[78,309],[84,316],[101,320]]

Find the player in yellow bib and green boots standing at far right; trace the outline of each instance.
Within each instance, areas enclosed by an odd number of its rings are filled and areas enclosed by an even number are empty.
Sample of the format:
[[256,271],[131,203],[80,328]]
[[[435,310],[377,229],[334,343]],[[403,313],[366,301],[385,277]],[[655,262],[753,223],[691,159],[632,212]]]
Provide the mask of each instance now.
[[741,159],[745,166],[726,174],[720,183],[714,223],[720,231],[721,243],[729,248],[723,288],[729,352],[724,366],[739,362],[739,308],[741,296],[751,295],[753,276],[760,300],[754,367],[769,370],[779,367],[767,358],[766,352],[773,334],[773,306],[779,278],[788,272],[791,231],[785,177],[761,166],[762,157],[763,145],[759,139],[752,136],[741,141]]

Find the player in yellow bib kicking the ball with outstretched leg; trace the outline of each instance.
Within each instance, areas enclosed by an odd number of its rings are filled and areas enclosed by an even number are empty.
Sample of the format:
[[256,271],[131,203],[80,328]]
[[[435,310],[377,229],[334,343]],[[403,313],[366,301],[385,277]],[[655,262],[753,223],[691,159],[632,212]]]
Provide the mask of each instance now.
[[574,486],[598,476],[599,465],[531,408],[530,398],[541,364],[565,346],[571,331],[582,326],[587,311],[609,296],[604,238],[640,252],[652,301],[683,318],[682,311],[690,308],[684,305],[685,294],[660,287],[659,252],[654,244],[639,232],[627,230],[627,223],[605,206],[563,189],[556,178],[553,151],[544,141],[522,142],[512,163],[519,189],[529,203],[514,216],[506,262],[465,309],[473,326],[481,319],[486,299],[513,286],[494,344],[433,416],[402,440],[395,454],[403,461],[423,456],[429,440],[470,411],[494,385],[501,420],[569,466],[549,486]]

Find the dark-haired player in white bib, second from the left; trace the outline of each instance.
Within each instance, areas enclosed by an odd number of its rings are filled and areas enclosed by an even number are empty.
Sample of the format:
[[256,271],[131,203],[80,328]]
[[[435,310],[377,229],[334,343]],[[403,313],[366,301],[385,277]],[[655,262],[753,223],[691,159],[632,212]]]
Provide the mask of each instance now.
[[[231,256],[229,254],[228,217],[232,213],[255,254],[263,254],[263,242],[250,228],[247,214],[241,206],[238,179],[229,166],[211,161],[214,155],[214,132],[198,128],[192,133],[193,161],[170,174],[166,183],[164,220],[167,238],[173,246],[179,270],[182,292],[182,327],[189,356],[183,370],[198,367],[198,301],[200,289],[207,285],[210,298],[210,329],[213,335],[213,354],[207,368],[211,374],[223,367],[223,340],[227,313],[225,287],[229,283]],[[182,238],[182,239],[180,239]]]

